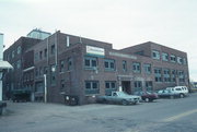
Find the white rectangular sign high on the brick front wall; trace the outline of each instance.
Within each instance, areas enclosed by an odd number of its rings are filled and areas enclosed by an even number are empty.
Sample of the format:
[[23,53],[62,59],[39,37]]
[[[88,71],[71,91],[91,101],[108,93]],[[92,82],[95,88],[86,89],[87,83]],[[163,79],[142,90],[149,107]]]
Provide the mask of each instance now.
[[86,46],[86,53],[95,56],[105,56],[105,49],[93,46]]

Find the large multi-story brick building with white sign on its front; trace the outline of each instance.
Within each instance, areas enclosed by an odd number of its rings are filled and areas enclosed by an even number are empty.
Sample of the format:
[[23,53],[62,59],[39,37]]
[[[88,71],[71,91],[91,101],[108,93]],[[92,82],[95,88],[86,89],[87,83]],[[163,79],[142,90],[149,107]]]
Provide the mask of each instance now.
[[112,44],[56,32],[24,53],[23,86],[33,100],[79,104],[123,89],[155,91],[188,86],[188,63],[182,52],[151,41],[116,50]]

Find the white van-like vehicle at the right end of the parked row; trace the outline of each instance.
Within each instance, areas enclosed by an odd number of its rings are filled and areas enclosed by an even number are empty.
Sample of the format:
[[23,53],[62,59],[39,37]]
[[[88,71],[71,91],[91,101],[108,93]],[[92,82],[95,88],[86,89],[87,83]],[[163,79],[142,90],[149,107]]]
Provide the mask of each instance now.
[[167,87],[172,93],[179,94],[179,97],[188,96],[188,88],[186,86],[175,86],[175,87]]

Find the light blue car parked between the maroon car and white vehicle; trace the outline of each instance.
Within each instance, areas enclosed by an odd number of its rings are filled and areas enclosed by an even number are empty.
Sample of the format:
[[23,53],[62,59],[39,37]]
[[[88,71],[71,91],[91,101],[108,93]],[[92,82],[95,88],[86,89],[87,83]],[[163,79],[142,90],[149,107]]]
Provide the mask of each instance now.
[[178,93],[173,93],[170,89],[160,89],[158,91],[159,98],[175,98],[179,97]]

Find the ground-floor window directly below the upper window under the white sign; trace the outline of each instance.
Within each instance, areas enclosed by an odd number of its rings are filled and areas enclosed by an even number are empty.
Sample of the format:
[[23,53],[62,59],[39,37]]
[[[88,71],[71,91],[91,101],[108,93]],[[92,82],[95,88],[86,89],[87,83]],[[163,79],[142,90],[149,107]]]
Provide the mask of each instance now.
[[99,94],[99,81],[85,81],[85,94]]

